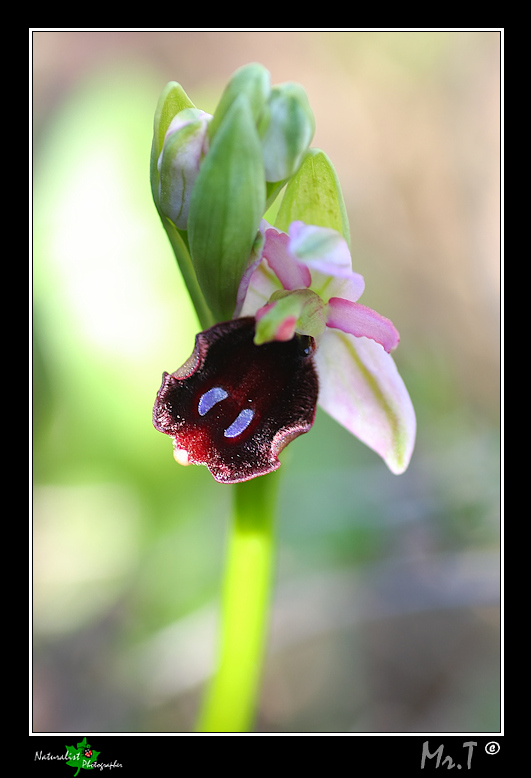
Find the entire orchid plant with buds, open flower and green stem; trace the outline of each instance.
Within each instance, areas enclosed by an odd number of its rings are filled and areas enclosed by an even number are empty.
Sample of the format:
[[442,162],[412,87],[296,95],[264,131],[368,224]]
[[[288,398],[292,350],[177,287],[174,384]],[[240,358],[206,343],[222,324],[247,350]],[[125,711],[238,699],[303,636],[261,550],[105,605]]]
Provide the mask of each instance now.
[[[279,454],[319,403],[403,472],[415,414],[391,351],[389,319],[358,302],[348,218],[334,167],[310,148],[304,89],[237,70],[212,116],[163,90],[153,126],[153,199],[201,329],[163,373],[153,424],[180,464],[235,484],[220,659],[201,732],[252,726],[272,582]],[[282,192],[275,226],[264,221]],[[267,478],[257,478],[270,474]]]

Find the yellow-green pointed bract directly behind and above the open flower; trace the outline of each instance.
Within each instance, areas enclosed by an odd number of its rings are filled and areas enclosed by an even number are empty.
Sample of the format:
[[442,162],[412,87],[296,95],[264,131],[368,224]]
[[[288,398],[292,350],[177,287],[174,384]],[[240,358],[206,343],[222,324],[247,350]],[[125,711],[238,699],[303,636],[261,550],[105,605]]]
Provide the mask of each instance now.
[[309,149],[289,181],[275,227],[288,231],[293,221],[337,230],[350,245],[350,230],[341,186],[334,166],[319,149]]

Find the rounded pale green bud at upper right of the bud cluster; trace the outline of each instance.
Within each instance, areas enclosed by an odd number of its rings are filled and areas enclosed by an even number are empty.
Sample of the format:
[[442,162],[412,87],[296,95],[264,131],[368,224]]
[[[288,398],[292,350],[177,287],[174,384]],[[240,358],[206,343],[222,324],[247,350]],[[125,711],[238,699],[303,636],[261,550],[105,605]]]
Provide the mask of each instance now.
[[314,132],[315,119],[299,84],[273,87],[259,127],[266,181],[283,181],[299,168]]

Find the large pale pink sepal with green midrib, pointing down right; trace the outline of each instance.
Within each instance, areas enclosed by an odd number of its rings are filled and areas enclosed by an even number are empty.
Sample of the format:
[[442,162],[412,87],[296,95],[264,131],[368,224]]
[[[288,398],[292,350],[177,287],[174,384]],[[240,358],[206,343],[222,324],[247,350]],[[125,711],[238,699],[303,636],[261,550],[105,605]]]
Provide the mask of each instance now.
[[393,358],[373,340],[327,329],[315,353],[319,405],[403,473],[415,444],[415,411]]

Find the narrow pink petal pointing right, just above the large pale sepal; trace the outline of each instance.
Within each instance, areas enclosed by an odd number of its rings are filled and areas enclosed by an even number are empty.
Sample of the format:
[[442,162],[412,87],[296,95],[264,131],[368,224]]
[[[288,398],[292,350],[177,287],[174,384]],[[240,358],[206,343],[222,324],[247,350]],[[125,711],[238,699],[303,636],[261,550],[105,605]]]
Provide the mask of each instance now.
[[326,325],[357,338],[375,340],[388,353],[396,348],[400,341],[400,335],[392,321],[366,305],[343,300],[341,297],[331,297],[328,301]]

